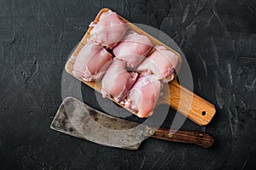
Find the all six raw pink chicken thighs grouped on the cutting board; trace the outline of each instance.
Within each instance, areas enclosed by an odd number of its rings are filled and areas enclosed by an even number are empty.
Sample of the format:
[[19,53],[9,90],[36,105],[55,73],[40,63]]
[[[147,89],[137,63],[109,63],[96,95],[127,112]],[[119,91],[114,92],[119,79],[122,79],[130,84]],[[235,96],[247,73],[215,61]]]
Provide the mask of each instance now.
[[172,81],[178,56],[129,30],[119,15],[108,11],[91,24],[90,39],[80,50],[73,75],[101,81],[102,96],[113,97],[139,117],[153,113],[163,87]]

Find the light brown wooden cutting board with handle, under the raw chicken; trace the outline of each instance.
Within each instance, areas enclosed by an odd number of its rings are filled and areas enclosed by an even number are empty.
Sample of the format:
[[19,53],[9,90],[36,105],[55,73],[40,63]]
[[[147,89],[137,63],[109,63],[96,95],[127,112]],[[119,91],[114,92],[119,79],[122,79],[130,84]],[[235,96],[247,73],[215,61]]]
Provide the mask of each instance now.
[[[108,12],[108,8],[102,8],[102,10],[97,14],[96,19],[94,20],[95,23],[97,23],[104,12]],[[121,16],[119,16],[122,20],[125,21],[125,23],[130,27],[131,30],[137,31],[139,34],[143,34],[147,36],[154,45],[161,45],[165,46],[166,48],[170,49],[173,53],[177,54],[176,51],[174,51],[172,48],[166,46],[163,42],[160,42],[156,38],[150,36],[147,32],[141,30],[137,26],[134,26],[129,22],[128,20],[125,20]],[[89,27],[89,29],[86,31],[84,37],[79,42],[79,45],[74,49],[73,54],[71,57],[67,60],[66,64],[66,71],[70,75],[73,76],[73,65],[75,63],[76,57],[79,54],[79,51],[81,48],[84,47],[84,44],[86,44],[86,39],[90,37],[90,31],[93,29],[93,27]],[[180,54],[177,54],[179,57],[179,64],[177,65],[176,71],[179,70],[180,66],[182,65],[182,58]],[[73,76],[74,77],[74,76]],[[95,89],[97,92],[101,93],[101,82],[85,82],[84,80],[76,77],[81,82],[84,82],[86,85],[90,86],[90,88]],[[211,103],[209,103],[207,100],[202,99],[200,96],[190,92],[188,89],[183,88],[178,82],[177,82],[177,74],[176,78],[172,81],[166,84],[167,88],[164,88],[165,90],[169,90],[168,93],[164,93],[164,95],[160,96],[159,102],[157,105],[160,104],[166,104],[170,105],[174,110],[182,113],[184,116],[187,116],[191,121],[197,123],[198,125],[205,126],[209,122],[211,122],[212,117],[215,115],[215,107]],[[165,95],[170,94],[170,95]],[[113,98],[109,98],[113,100],[113,102],[117,103]],[[124,107],[124,105],[117,103],[118,105],[121,105]],[[126,108],[125,108],[126,109]],[[128,110],[130,111],[130,110]],[[134,111],[131,111],[133,114],[137,114]],[[157,113],[154,113],[157,114]]]

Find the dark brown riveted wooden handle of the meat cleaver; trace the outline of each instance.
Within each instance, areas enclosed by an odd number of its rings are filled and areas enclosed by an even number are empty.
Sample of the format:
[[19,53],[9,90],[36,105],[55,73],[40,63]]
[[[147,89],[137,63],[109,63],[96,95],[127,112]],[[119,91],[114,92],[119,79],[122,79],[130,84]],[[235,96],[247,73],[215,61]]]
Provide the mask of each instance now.
[[172,142],[196,144],[203,148],[211,147],[214,142],[214,139],[208,133],[183,130],[171,130],[170,133],[170,128],[166,127],[160,127],[151,135],[151,137]]

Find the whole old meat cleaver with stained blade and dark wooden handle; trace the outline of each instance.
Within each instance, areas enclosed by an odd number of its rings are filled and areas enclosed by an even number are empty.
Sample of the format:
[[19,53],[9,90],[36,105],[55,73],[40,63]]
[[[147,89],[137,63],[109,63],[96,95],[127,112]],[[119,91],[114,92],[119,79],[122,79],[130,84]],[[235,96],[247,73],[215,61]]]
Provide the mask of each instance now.
[[50,127],[96,144],[129,150],[137,150],[148,137],[197,144],[204,148],[213,144],[212,136],[207,133],[148,127],[145,124],[109,116],[72,97],[63,100]]

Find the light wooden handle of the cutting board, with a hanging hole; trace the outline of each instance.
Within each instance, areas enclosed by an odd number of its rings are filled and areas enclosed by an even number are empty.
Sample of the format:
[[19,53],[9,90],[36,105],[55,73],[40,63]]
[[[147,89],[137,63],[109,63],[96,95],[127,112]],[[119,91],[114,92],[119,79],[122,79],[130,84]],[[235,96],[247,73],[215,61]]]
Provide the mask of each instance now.
[[191,121],[198,125],[205,126],[211,122],[215,115],[215,107],[207,100],[193,94],[188,89],[183,88],[176,80],[170,82],[170,97],[164,99],[164,103],[187,116]]

